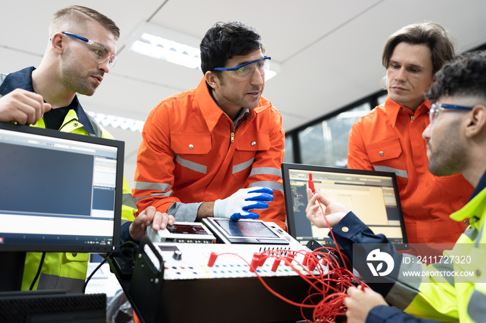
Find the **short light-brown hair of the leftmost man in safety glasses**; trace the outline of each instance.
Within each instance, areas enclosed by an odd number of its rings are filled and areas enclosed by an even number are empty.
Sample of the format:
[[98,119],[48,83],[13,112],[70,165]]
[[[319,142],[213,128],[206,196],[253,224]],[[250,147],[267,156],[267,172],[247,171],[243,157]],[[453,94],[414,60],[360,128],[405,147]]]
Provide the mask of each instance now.
[[83,6],[69,6],[54,12],[51,18],[51,26],[49,26],[49,36],[57,31],[61,31],[53,30],[56,28],[56,23],[59,19],[69,19],[75,22],[83,22],[85,21],[86,16],[94,19],[94,21],[97,21],[99,24],[101,24],[101,26],[112,33],[113,36],[115,36],[115,40],[118,40],[120,37],[120,29],[115,24],[115,21],[112,21],[112,19],[106,17],[106,15],[97,12],[97,10]]

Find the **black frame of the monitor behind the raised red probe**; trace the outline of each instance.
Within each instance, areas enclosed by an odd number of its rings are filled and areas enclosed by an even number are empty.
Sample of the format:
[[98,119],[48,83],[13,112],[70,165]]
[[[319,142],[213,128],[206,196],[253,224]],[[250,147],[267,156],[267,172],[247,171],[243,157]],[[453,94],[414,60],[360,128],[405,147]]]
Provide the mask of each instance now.
[[[399,220],[401,226],[401,232],[403,236],[403,243],[393,243],[397,250],[408,250],[410,249],[410,245],[408,243],[408,236],[407,231],[405,229],[405,221],[403,220],[403,211],[401,208],[400,202],[400,194],[398,189],[398,184],[396,182],[396,175],[392,172],[384,172],[384,171],[368,171],[363,169],[353,169],[353,168],[340,168],[340,167],[333,167],[333,166],[319,166],[319,165],[310,165],[310,164],[294,164],[294,163],[283,163],[282,167],[282,174],[288,174],[291,169],[299,170],[299,171],[316,171],[316,172],[329,172],[329,173],[349,173],[355,175],[371,175],[371,176],[382,176],[382,177],[390,177],[393,182],[393,189],[396,196],[396,207],[399,211]],[[292,193],[290,187],[290,180],[287,176],[282,176],[283,180],[283,191],[285,195],[285,211],[287,213],[287,228],[289,230],[290,236],[296,239],[296,227],[295,227],[295,216],[294,211],[289,206],[292,206]],[[292,216],[289,216],[290,212],[292,212]],[[330,246],[330,245],[326,245]]]

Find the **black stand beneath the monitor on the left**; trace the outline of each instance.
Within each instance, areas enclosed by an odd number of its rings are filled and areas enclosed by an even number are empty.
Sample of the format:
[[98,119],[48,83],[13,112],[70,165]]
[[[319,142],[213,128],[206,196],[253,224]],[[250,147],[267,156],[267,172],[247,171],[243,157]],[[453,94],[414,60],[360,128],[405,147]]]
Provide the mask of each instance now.
[[0,252],[0,292],[21,290],[26,252]]

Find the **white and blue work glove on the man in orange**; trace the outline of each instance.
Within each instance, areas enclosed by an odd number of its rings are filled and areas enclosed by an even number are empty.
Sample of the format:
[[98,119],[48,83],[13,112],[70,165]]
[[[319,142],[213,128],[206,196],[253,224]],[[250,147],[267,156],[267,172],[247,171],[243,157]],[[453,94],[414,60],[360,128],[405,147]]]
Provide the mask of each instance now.
[[258,214],[249,210],[267,209],[268,203],[274,200],[274,190],[268,187],[250,187],[240,189],[224,200],[215,200],[213,213],[215,218],[258,219]]

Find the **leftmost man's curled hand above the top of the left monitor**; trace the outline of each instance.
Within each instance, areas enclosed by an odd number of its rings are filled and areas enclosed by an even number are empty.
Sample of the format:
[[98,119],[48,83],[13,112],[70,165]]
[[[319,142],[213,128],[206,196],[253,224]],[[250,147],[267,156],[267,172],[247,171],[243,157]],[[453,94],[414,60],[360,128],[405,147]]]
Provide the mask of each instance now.
[[24,89],[15,89],[0,98],[0,121],[33,125],[51,110],[49,103],[39,94]]

